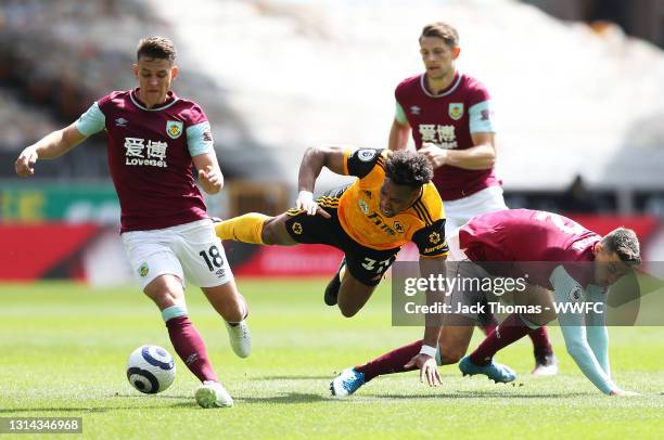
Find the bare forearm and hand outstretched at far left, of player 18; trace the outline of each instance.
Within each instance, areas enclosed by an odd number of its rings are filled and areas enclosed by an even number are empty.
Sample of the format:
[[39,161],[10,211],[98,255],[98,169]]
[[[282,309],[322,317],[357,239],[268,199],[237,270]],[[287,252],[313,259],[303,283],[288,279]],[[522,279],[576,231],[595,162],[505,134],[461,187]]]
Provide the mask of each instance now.
[[33,167],[37,159],[53,159],[62,156],[86,138],[87,135],[81,134],[76,128],[76,122],[47,134],[21,152],[14,163],[16,174],[23,178],[33,176],[35,173]]

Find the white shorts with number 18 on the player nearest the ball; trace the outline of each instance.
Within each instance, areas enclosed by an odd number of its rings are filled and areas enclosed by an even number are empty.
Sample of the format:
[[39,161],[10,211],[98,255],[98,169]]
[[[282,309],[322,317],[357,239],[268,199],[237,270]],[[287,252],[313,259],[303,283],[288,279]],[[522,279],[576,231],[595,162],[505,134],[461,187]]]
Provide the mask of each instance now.
[[200,287],[233,279],[210,219],[177,227],[123,233],[125,250],[141,289],[159,275],[173,274]]

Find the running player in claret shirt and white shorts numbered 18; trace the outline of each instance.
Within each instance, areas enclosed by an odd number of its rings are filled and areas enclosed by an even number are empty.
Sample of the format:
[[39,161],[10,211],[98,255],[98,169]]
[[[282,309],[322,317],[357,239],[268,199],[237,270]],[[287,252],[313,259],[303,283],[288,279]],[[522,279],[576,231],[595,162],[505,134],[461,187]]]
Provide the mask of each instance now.
[[231,406],[232,398],[189,320],[184,276],[201,286],[224,318],[233,351],[241,358],[251,349],[244,321],[247,306],[194,183],[192,163],[208,194],[221,190],[224,177],[203,109],[170,90],[178,75],[175,59],[168,39],[141,40],[133,65],[139,87],[101,98],[77,121],[26,147],[15,168],[18,176],[33,176],[38,159],[61,156],[106,131],[108,168],[122,208],[120,234],[133,273],[159,308],[176,352],[202,381],[196,402],[204,407]]

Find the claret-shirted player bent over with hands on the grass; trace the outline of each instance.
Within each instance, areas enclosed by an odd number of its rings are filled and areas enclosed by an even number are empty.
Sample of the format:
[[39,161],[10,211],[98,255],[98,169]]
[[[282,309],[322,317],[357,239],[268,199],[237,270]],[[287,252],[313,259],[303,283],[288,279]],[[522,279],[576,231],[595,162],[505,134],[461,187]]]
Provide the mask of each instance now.
[[[527,243],[527,246],[523,244]],[[445,314],[436,358],[438,364],[459,362],[464,375],[484,374],[495,381],[511,381],[515,374],[494,362],[501,348],[524,337],[531,328],[558,318],[565,345],[584,375],[605,394],[633,396],[611,379],[609,339],[604,323],[606,288],[629,267],[639,264],[639,242],[631,230],[618,228],[604,237],[551,212],[503,210],[475,217],[449,237],[450,261],[474,268],[477,277],[527,274],[526,288],[514,293],[514,303],[539,305],[533,312],[509,315],[469,357],[463,357],[473,325],[458,305],[482,302],[482,293],[452,292],[452,313]],[[475,264],[477,262],[478,264]],[[486,264],[486,262],[499,262]],[[448,271],[448,273],[450,273]],[[525,280],[525,276],[523,277]],[[601,303],[585,312],[556,314],[557,303]],[[457,302],[457,303],[454,303]],[[465,309],[468,310],[468,309]],[[463,324],[465,320],[465,324]],[[447,325],[452,322],[452,325]],[[449,337],[454,334],[454,337]],[[421,341],[391,351],[367,364],[345,370],[331,384],[334,396],[348,396],[372,378],[408,370],[404,365],[418,352]],[[410,365],[412,368],[412,365]],[[429,377],[429,376],[427,376]],[[434,375],[430,385],[439,384]]]

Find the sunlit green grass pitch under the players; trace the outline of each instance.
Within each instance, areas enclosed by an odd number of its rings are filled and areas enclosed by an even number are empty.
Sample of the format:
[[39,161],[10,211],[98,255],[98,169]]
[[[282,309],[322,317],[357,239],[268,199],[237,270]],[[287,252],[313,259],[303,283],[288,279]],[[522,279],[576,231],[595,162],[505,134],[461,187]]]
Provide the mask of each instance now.
[[[610,329],[613,376],[643,393],[639,398],[597,391],[551,327],[557,377],[529,376],[532,346],[522,340],[498,357],[520,374],[516,386],[463,378],[451,365],[440,368],[444,384],[435,389],[411,372],[334,400],[328,386],[335,372],[410,342],[421,331],[391,326],[388,283],[353,319],[323,305],[324,284],[239,280],[254,337],[246,360],[232,354],[202,293],[189,289],[191,319],[235,399],[228,410],[195,404],[196,380],[179,360],[176,381],[162,394],[142,396],[127,383],[125,363],[136,347],[157,344],[174,353],[156,308],[138,288],[0,284],[0,416],[80,416],[84,438],[118,439],[664,436],[662,327]],[[471,347],[480,338],[475,332]]]

